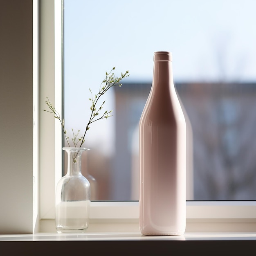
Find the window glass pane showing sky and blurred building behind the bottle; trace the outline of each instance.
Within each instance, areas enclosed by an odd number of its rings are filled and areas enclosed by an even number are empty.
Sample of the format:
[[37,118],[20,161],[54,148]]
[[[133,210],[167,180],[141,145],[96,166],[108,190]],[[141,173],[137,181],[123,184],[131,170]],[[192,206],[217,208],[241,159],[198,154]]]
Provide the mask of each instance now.
[[[174,82],[191,123],[187,200],[256,199],[256,2],[64,0],[64,117],[85,131],[105,72],[129,70],[111,88],[85,136],[93,200],[138,200],[138,123],[153,53],[173,53]],[[86,167],[87,166],[87,167]],[[86,175],[86,174],[85,174]],[[94,183],[92,183],[94,188]]]

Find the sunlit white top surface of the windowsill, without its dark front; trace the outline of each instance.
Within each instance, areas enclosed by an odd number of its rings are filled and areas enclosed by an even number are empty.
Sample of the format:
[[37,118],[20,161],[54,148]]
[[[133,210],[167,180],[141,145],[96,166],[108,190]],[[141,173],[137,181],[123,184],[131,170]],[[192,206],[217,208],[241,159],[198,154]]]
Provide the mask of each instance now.
[[211,241],[254,240],[256,232],[185,232],[182,236],[143,236],[140,232],[88,232],[0,235],[0,241]]

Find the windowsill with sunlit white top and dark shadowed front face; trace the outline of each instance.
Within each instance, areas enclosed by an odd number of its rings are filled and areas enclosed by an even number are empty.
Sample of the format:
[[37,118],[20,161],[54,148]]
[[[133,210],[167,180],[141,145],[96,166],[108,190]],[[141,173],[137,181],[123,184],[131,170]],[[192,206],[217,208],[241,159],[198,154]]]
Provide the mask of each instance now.
[[[135,227],[131,223],[129,225]],[[34,255],[34,252],[40,252],[40,255],[58,252],[62,256],[86,255],[86,252],[111,256],[136,252],[143,252],[143,255],[171,255],[173,252],[179,252],[179,255],[243,255],[241,250],[253,252],[255,245],[256,232],[185,232],[183,236],[143,236],[139,231],[87,231],[83,234],[58,234],[55,231],[0,235],[1,251],[8,251],[8,255]]]

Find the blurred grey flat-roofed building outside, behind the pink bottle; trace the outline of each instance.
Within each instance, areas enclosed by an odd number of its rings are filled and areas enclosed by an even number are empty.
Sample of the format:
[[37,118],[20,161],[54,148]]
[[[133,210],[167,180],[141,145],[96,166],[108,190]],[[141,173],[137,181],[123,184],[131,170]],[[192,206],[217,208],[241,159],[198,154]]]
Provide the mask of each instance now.
[[[150,88],[151,83],[124,83],[115,90],[115,200],[138,200],[138,124]],[[193,131],[187,200],[255,200],[256,84],[176,83],[175,88]]]

